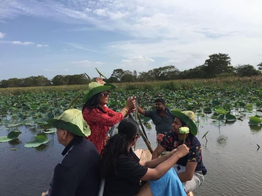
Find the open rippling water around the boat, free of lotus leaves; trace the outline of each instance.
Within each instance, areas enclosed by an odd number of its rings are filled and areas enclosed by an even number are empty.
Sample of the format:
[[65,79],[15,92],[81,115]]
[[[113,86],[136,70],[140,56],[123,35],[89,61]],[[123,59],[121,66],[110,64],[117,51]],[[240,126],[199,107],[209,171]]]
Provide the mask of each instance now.
[[[197,118],[196,118],[197,120]],[[248,125],[248,120],[233,123],[210,124],[211,119],[199,117],[198,137],[202,144],[202,157],[207,174],[204,184],[194,195],[259,195],[262,181],[261,127]],[[151,121],[150,121],[151,122]],[[152,124],[152,123],[151,123]],[[19,139],[0,143],[0,195],[41,195],[48,189],[56,164],[62,158],[64,147],[58,143],[56,133],[44,134],[49,141],[37,148],[26,148],[26,141],[34,140],[40,134],[40,127],[18,127],[22,132]],[[8,130],[0,127],[0,136]],[[10,129],[13,131],[15,128]],[[156,148],[156,131],[146,129],[148,139]],[[204,133],[209,131],[205,138]],[[17,151],[11,150],[16,148]],[[146,149],[143,139],[139,139],[137,148]]]

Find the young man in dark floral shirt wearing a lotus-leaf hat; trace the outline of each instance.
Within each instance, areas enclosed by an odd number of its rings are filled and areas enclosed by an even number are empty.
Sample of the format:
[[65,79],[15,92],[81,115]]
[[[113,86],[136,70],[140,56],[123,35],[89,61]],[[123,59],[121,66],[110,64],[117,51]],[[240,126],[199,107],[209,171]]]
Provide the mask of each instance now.
[[[180,158],[174,165],[174,169],[178,174],[179,179],[185,186],[186,193],[194,191],[204,181],[206,174],[206,168],[203,166],[201,155],[201,144],[195,137],[197,134],[197,127],[194,123],[194,112],[184,111],[177,112],[171,111],[175,115],[174,123],[172,124],[172,131],[167,133],[163,137],[160,144],[154,150],[152,159],[158,158],[158,156],[164,151],[172,151],[179,145],[183,144],[185,137],[185,145],[189,148],[189,154]],[[190,133],[179,133],[181,127],[188,127]]]

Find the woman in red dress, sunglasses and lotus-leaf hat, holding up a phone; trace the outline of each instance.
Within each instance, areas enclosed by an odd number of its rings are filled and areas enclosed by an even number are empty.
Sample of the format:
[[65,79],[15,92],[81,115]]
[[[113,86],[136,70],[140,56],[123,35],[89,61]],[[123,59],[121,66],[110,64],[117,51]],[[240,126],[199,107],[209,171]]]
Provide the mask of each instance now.
[[85,138],[93,142],[99,153],[104,148],[106,134],[110,127],[135,110],[135,98],[128,98],[126,106],[120,112],[106,107],[110,88],[110,86],[97,86],[83,97],[85,102],[82,109],[83,118],[91,129],[91,135]]

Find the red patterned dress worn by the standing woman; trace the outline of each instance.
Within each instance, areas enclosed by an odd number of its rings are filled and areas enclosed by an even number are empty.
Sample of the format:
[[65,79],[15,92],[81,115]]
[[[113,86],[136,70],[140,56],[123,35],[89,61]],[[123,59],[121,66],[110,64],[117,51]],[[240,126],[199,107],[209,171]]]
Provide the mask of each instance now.
[[106,106],[103,106],[102,109],[106,113],[97,108],[93,108],[90,112],[88,108],[85,108],[83,111],[83,117],[91,130],[91,135],[85,139],[93,142],[99,154],[105,146],[106,133],[110,127],[123,119],[121,112],[115,112]]

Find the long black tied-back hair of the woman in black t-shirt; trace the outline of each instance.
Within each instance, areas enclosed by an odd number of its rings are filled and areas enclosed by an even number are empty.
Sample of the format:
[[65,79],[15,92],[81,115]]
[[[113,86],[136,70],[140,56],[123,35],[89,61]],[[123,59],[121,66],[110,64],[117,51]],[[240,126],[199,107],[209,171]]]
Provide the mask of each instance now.
[[133,119],[123,119],[118,126],[118,134],[110,137],[100,154],[101,176],[106,178],[110,172],[115,172],[117,161],[121,156],[129,156],[127,151],[130,139],[139,133],[139,126]]

